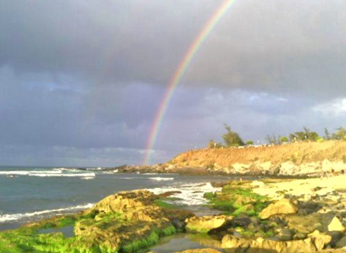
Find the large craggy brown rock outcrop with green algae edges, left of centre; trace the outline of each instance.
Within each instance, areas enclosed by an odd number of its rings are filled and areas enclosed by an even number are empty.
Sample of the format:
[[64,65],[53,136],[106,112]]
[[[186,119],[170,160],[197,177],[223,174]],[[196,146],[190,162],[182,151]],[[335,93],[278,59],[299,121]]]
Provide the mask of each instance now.
[[147,190],[105,197],[84,212],[88,219],[76,223],[74,234],[110,251],[135,252],[139,250],[138,245],[145,248],[156,243],[159,236],[174,233],[174,222],[183,222],[192,216],[192,212],[156,206],[155,199],[156,195]]

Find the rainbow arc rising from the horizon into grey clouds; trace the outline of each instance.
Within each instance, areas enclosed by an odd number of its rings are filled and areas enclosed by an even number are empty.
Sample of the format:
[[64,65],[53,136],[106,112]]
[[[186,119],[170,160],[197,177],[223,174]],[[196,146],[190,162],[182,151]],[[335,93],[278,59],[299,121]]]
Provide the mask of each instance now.
[[150,155],[152,153],[152,149],[156,142],[156,138],[159,135],[159,131],[161,129],[161,124],[163,119],[165,118],[165,113],[167,111],[167,107],[170,104],[170,100],[172,100],[172,96],[176,87],[179,85],[181,78],[183,78],[187,67],[189,67],[192,59],[196,55],[196,53],[201,48],[201,45],[207,39],[207,36],[212,32],[215,25],[222,19],[227,10],[230,9],[232,3],[235,0],[225,0],[220,5],[220,7],[212,14],[212,17],[205,23],[201,32],[199,32],[198,36],[194,39],[189,49],[187,50],[183,60],[179,63],[176,72],[172,76],[170,83],[168,84],[167,90],[165,91],[165,96],[161,100],[161,104],[159,106],[159,110],[156,112],[155,120],[152,124],[152,128],[150,130],[150,135],[147,139],[147,146],[145,148],[145,155],[143,159],[143,164],[150,164]]

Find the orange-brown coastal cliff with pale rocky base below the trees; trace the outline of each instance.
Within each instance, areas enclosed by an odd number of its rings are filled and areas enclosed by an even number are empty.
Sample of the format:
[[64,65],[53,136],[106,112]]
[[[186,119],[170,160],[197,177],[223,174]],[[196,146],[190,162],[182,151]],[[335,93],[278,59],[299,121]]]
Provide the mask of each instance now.
[[272,146],[202,148],[165,164],[127,167],[126,172],[319,177],[346,171],[346,142],[296,142]]

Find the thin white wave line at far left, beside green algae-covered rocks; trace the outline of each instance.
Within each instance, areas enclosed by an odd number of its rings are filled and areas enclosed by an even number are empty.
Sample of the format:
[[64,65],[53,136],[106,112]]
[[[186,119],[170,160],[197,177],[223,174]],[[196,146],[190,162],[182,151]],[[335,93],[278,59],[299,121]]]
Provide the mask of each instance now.
[[91,208],[94,206],[94,203],[88,203],[86,205],[79,205],[79,206],[72,206],[69,208],[59,208],[59,209],[53,209],[53,210],[42,210],[42,211],[37,211],[37,212],[26,212],[26,213],[19,213],[19,214],[3,214],[0,215],[0,223],[1,222],[6,222],[6,221],[18,221],[20,219],[24,218],[30,218],[34,216],[39,216],[42,214],[49,214],[49,213],[54,213],[54,214],[59,214],[61,212],[68,212],[68,211],[75,211],[75,210],[83,210],[87,208]]

